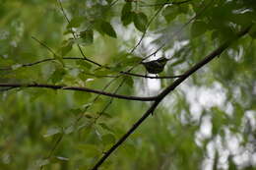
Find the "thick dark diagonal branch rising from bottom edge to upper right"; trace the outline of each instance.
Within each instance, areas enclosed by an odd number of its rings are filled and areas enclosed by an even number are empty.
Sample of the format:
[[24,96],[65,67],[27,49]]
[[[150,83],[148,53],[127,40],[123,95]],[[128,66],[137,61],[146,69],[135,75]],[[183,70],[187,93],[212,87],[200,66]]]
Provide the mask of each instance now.
[[179,78],[171,85],[167,86],[156,98],[155,102],[151,105],[151,107],[143,114],[143,116],[132,126],[132,128],[124,134],[118,142],[116,142],[114,145],[112,145],[106,152],[104,152],[103,156],[96,162],[96,165],[92,168],[92,170],[97,170],[97,168],[110,156],[110,154],[117,149],[125,140],[156,110],[158,105],[160,104],[160,101],[172,90],[174,90],[178,85],[183,83],[187,78],[189,78],[192,74],[194,74],[196,71],[204,67],[206,64],[211,62],[213,59],[215,59],[217,56],[220,56],[224,50],[236,39],[239,37],[245,35],[249,30],[251,26],[248,28],[245,28],[244,30],[240,31],[236,37],[227,40],[224,42],[223,45],[221,45],[219,48],[214,50],[212,53],[210,53],[208,56],[206,56],[203,60],[201,60],[199,63],[197,63],[194,67],[189,69],[185,76],[182,78]]

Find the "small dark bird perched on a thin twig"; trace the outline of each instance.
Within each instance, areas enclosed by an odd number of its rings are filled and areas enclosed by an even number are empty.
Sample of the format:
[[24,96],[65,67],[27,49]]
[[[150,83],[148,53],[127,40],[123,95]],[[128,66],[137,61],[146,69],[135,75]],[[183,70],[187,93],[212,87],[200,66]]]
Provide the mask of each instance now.
[[169,59],[166,59],[165,57],[160,57],[157,60],[152,60],[149,62],[142,62],[142,64],[144,65],[144,67],[146,68],[146,70],[151,73],[151,74],[159,74],[160,72],[163,71],[164,66],[166,64],[166,62]]

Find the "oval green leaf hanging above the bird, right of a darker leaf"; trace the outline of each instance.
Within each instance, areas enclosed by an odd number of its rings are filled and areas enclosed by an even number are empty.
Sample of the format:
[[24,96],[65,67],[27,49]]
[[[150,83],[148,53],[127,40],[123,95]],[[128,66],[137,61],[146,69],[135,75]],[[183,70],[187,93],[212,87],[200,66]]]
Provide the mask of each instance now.
[[137,28],[138,30],[144,32],[147,29],[147,25],[148,25],[148,17],[140,12],[140,13],[134,13],[133,15],[133,23],[135,28]]

